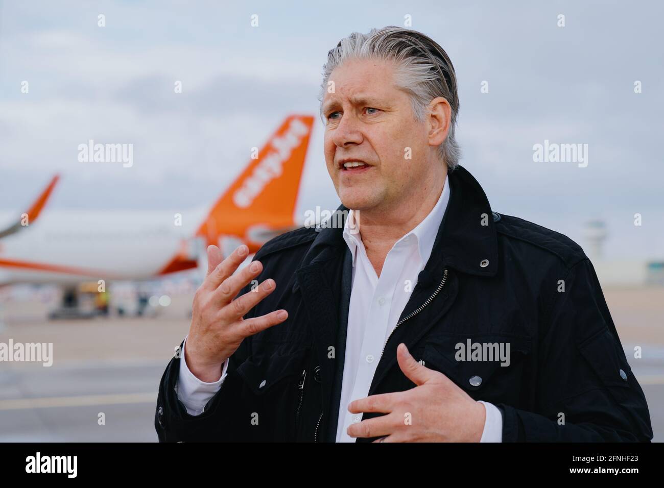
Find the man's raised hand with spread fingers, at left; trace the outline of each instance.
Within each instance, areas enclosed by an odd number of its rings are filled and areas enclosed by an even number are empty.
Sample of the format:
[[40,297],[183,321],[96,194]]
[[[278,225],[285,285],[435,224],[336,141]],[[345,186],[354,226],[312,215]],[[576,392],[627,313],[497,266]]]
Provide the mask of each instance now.
[[248,253],[249,249],[242,244],[222,261],[221,250],[217,246],[207,248],[207,275],[194,295],[191,326],[185,346],[187,367],[201,381],[217,381],[221,377],[222,364],[240,347],[245,337],[288,318],[288,312],[284,309],[251,319],[242,318],[276,288],[276,283],[270,278],[233,299],[263,269],[260,262],[254,261],[233,274]]

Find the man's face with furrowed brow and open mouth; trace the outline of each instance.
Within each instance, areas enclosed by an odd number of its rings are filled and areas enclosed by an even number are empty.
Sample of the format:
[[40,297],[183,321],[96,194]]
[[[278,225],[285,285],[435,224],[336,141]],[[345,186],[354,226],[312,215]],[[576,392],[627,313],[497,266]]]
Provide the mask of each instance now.
[[[427,184],[430,165],[442,164],[428,161],[426,123],[415,120],[393,72],[391,62],[353,59],[329,78],[334,93],[323,99],[325,163],[347,208],[389,211],[408,204]],[[345,161],[365,165],[344,167]]]

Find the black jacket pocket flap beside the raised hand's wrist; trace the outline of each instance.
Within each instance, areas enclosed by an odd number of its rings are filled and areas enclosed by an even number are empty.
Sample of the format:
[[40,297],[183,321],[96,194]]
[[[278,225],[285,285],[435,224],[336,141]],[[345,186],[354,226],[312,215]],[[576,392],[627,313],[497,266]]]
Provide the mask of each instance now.
[[238,374],[254,394],[262,395],[284,378],[301,374],[304,356],[305,351],[297,351],[258,360],[250,357],[238,366]]

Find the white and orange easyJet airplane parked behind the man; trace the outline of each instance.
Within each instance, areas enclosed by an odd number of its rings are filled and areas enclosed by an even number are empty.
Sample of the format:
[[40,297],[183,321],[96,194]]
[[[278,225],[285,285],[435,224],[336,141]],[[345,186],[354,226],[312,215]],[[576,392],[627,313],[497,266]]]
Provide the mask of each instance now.
[[290,115],[211,207],[191,210],[44,210],[54,177],[31,208],[0,214],[0,286],[73,287],[90,280],[154,280],[207,268],[207,246],[250,255],[297,228],[293,214],[313,116]]

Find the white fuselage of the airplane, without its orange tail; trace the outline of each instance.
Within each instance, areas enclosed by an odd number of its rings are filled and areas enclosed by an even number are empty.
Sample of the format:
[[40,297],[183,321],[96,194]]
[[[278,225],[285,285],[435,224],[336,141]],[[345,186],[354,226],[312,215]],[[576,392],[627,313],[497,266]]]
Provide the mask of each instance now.
[[[44,210],[33,224],[0,239],[0,284],[154,278],[179,252],[191,252],[205,214],[205,208]],[[0,214],[1,224],[15,220],[16,214]]]

